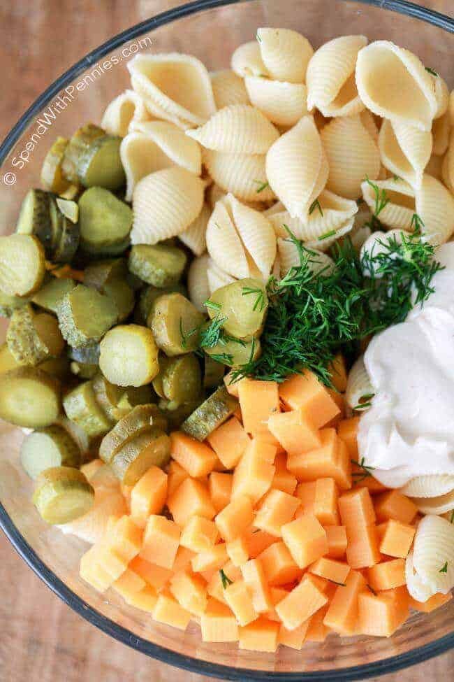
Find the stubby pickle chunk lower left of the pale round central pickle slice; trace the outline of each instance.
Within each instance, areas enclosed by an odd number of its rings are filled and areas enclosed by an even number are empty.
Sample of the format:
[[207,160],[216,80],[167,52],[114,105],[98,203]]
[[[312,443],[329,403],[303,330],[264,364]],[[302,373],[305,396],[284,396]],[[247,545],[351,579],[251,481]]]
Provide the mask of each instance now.
[[87,436],[103,436],[112,422],[96,400],[93,384],[85,381],[67,393],[63,407],[68,419],[82,428]]

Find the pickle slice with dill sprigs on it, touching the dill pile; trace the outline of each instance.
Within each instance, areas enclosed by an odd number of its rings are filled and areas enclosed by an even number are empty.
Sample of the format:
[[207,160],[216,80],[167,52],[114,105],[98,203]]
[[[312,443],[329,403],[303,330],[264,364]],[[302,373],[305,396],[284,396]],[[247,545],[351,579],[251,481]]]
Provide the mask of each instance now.
[[251,339],[261,331],[268,308],[265,284],[250,277],[220,287],[210,296],[208,315],[221,315],[226,334]]

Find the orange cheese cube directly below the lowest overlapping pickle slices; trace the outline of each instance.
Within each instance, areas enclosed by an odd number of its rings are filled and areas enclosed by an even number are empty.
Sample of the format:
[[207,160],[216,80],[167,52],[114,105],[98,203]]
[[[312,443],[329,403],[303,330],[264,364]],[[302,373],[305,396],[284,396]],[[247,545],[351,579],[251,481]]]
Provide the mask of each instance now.
[[160,514],[166,504],[167,474],[159,467],[150,467],[131,490],[131,516],[134,523],[145,528],[151,514]]

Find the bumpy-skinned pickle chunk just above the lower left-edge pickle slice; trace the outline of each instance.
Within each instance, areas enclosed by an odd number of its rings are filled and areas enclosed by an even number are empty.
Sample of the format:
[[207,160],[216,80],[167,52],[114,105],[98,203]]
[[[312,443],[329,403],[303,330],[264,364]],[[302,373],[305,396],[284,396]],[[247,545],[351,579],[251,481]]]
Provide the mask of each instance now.
[[58,357],[64,339],[57,320],[49,313],[34,313],[30,305],[13,314],[6,332],[8,349],[19,364],[35,366],[47,357]]

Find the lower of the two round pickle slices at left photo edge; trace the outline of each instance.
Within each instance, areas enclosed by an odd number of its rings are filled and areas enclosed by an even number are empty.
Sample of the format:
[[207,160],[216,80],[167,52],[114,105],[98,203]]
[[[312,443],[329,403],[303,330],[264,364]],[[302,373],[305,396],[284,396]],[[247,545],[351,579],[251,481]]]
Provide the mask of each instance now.
[[38,367],[18,367],[0,376],[0,417],[11,424],[39,429],[60,413],[60,383]]

